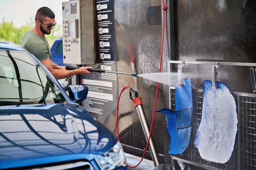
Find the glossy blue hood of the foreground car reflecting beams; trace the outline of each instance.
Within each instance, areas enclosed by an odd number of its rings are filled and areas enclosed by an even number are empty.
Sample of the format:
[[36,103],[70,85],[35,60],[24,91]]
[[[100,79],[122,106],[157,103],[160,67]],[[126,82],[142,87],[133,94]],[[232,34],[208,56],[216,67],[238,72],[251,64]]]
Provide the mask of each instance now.
[[93,160],[115,136],[77,104],[0,106],[0,169]]

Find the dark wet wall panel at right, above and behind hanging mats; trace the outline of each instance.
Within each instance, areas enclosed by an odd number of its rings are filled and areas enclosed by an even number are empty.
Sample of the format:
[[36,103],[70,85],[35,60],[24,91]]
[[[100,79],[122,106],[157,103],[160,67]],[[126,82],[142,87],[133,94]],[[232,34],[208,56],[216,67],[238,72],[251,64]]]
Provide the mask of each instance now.
[[[176,0],[175,58],[182,61],[255,63],[256,2],[254,0]],[[211,68],[196,66],[186,71],[202,88],[211,80]],[[217,80],[233,92],[253,93],[248,67],[219,67]]]

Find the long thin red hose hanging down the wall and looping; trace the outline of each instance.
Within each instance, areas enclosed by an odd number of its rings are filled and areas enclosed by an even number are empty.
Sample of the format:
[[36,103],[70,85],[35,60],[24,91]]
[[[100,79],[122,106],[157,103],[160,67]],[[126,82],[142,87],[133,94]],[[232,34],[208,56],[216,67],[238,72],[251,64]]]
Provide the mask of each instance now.
[[[164,0],[163,0],[163,10],[165,11],[167,9],[166,6],[164,6]],[[163,13],[164,14],[164,13]],[[165,17],[164,19],[165,20]],[[163,21],[163,36],[162,36],[162,48],[161,48],[161,61],[160,61],[160,68],[159,68],[159,73],[161,73],[161,66],[162,66],[162,57],[163,57],[163,46],[164,46],[164,21]],[[158,87],[159,87],[159,82],[158,82]],[[155,103],[154,103],[154,113],[155,113],[155,109],[156,109],[156,105],[157,105],[157,99],[158,99],[158,87],[157,87],[157,93],[156,93],[156,99],[155,99]],[[125,90],[125,89],[129,89],[129,87],[124,87],[122,90],[121,90],[121,93]],[[119,105],[119,99],[120,99],[120,96],[121,96],[121,93],[119,94],[119,97],[118,97],[118,102],[117,102],[117,109],[116,109],[116,126],[117,126],[117,135],[118,135],[118,141],[120,142],[120,138],[119,138],[119,132],[118,132],[118,105]],[[151,128],[150,128],[150,133],[149,133],[149,137],[148,137],[148,143],[147,143],[147,146],[145,148],[145,151],[144,151],[144,154],[141,158],[141,161],[143,160],[145,154],[146,154],[146,151],[148,149],[148,144],[149,144],[149,139],[150,139],[150,136],[151,136],[151,132],[152,132],[152,127],[153,127],[153,123],[154,123],[154,113],[153,113],[153,118],[152,118],[152,123],[151,123]],[[121,142],[120,142],[121,143]],[[141,161],[134,167],[130,167],[128,165],[128,167],[130,168],[135,168],[137,167]]]

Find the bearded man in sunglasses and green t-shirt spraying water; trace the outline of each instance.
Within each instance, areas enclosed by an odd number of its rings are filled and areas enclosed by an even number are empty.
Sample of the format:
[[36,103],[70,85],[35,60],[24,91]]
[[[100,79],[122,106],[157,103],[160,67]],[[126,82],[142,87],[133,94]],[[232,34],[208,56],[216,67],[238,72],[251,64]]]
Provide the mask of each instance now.
[[39,59],[56,79],[63,79],[77,74],[91,73],[87,71],[87,69],[92,67],[81,67],[76,70],[68,71],[65,67],[54,64],[53,61],[51,61],[52,55],[50,46],[45,38],[45,34],[50,34],[56,24],[55,15],[51,9],[45,6],[39,8],[36,12],[35,20],[35,28],[26,32],[22,38],[22,48],[25,48]]

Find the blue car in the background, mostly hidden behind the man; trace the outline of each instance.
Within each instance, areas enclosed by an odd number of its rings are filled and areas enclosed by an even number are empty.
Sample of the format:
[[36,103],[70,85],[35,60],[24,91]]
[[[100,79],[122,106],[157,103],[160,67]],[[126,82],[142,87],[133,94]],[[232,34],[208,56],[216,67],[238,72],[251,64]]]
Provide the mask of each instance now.
[[[65,66],[66,64],[63,63],[63,42],[62,38],[57,39],[51,48],[52,58],[51,60],[59,65],[59,66]],[[64,90],[68,90],[69,85],[71,84],[71,79],[59,79],[58,80],[60,85]]]

